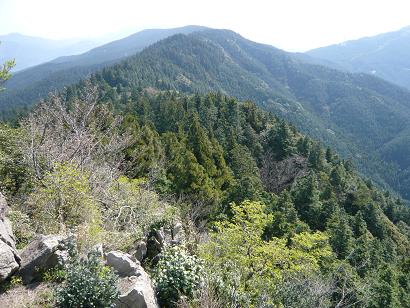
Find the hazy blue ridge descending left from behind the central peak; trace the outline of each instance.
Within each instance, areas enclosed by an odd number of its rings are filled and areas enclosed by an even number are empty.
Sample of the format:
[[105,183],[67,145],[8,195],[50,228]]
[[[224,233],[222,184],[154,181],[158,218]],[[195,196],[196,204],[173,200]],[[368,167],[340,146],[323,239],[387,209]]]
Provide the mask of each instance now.
[[[32,106],[50,92],[61,90],[64,86],[134,55],[161,39],[176,33],[190,33],[201,29],[205,28],[186,26],[175,29],[144,30],[80,55],[59,57],[18,72],[7,81],[8,91],[0,94],[0,118],[13,117],[20,109],[26,110],[27,106]],[[11,55],[10,57],[13,58]]]

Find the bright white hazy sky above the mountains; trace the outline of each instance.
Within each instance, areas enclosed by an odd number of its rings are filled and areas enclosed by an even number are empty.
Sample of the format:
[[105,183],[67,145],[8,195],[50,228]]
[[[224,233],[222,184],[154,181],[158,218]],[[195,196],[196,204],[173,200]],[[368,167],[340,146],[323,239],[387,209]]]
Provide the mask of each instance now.
[[0,34],[126,36],[189,24],[234,30],[289,51],[410,25],[405,0],[0,0]]

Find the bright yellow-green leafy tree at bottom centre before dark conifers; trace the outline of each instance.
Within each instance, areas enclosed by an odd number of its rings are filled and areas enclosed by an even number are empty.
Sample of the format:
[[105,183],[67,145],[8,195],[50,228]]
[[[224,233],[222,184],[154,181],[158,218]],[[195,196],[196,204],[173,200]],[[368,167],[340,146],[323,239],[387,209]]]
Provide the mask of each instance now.
[[[259,202],[244,201],[231,206],[233,217],[215,223],[211,240],[201,248],[211,275],[221,279],[220,292],[244,306],[256,305],[272,294],[279,281],[291,273],[311,273],[332,258],[327,236],[321,232],[300,233],[290,239],[263,239],[271,214]],[[275,304],[275,298],[265,298]],[[276,303],[277,304],[277,303]]]

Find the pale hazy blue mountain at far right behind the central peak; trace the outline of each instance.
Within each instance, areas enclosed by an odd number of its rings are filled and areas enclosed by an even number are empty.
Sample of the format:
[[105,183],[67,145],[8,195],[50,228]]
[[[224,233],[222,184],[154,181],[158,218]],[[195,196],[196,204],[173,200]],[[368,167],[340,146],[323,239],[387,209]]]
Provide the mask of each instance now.
[[337,45],[307,55],[350,72],[381,77],[410,89],[410,27]]

